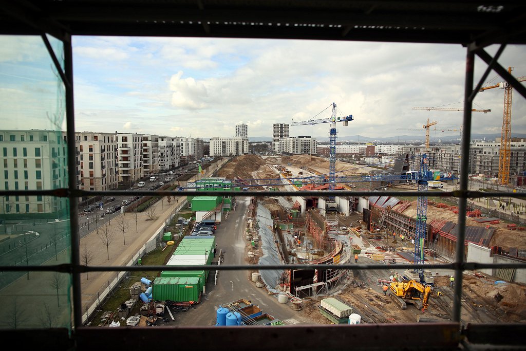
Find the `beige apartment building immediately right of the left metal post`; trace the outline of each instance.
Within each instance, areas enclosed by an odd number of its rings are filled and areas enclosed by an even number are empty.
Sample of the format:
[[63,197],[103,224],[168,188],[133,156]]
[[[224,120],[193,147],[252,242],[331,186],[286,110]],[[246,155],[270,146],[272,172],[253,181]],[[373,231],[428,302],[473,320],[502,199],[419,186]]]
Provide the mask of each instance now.
[[82,190],[112,190],[118,186],[117,136],[75,133],[77,175]]

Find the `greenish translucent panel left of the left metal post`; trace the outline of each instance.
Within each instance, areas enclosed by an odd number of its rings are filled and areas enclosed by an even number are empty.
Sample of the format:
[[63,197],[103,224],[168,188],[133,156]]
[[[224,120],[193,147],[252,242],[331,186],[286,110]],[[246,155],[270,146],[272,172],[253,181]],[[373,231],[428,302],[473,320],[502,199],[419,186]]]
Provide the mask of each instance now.
[[[48,39],[63,64],[62,42]],[[44,42],[39,36],[0,36],[0,47],[0,147],[7,147],[4,157],[9,159],[3,163],[9,175],[5,189],[16,188],[15,175],[24,168],[27,180],[19,189],[67,186],[65,90]],[[32,195],[1,200],[1,265],[71,262],[67,199]],[[3,272],[0,298],[7,307],[0,309],[0,328],[70,327],[70,287],[68,274]]]

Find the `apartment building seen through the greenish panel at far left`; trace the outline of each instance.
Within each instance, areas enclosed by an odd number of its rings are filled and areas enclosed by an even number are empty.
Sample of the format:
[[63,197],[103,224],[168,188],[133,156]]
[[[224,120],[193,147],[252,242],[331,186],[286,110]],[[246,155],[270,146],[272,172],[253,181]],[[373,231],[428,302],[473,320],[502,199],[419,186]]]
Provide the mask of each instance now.
[[[5,190],[48,190],[68,186],[65,132],[0,131],[2,185]],[[52,196],[2,196],[2,215],[25,218],[25,214],[49,214],[59,218],[67,212],[66,201]],[[32,217],[34,218],[34,216]],[[7,230],[8,228],[6,228]]]

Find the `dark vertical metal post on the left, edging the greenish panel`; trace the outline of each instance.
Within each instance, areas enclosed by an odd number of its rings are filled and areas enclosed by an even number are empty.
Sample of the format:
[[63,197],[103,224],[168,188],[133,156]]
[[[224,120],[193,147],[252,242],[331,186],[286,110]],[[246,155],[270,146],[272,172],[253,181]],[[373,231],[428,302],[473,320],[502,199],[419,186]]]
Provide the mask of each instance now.
[[[69,195],[77,193],[77,165],[75,157],[75,109],[73,100],[73,47],[71,35],[65,34],[64,40],[64,82],[66,90],[66,135],[67,135],[67,162],[68,162],[68,191]],[[71,264],[73,287],[73,327],[82,327],[82,292],[80,290],[80,236],[76,235],[78,228],[77,197],[68,198],[69,205],[69,233],[71,233]]]

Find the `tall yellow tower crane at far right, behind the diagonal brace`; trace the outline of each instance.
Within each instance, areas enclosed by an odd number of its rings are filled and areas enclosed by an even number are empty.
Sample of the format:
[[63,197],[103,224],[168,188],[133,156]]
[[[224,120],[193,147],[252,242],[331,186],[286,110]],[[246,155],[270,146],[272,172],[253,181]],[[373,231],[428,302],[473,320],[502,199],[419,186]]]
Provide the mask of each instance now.
[[[511,71],[513,71],[513,67],[508,67],[509,74],[511,74]],[[517,81],[526,81],[526,76],[517,78]],[[504,114],[502,117],[502,132],[499,152],[499,183],[502,185],[508,185],[510,182],[511,94],[513,92],[513,87],[508,82],[501,82],[499,84],[480,88],[479,92],[493,88],[504,89]]]

